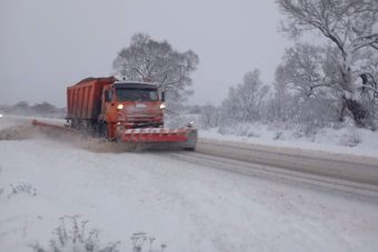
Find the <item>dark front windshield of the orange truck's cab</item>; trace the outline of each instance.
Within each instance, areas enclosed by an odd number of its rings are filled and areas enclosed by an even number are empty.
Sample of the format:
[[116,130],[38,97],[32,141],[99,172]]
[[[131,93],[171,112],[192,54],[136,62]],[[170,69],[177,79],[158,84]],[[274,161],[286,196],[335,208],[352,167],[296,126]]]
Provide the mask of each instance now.
[[116,89],[118,101],[158,101],[158,91],[153,89]]

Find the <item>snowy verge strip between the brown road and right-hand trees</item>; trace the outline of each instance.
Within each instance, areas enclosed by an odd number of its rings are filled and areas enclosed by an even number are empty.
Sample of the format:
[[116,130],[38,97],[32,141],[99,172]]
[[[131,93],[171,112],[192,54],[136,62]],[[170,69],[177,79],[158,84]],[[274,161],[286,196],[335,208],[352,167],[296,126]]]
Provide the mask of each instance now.
[[200,137],[378,158],[378,131],[358,129],[351,122],[340,129],[320,129],[310,135],[305,135],[295,128],[282,129],[278,125],[255,123],[201,130]]

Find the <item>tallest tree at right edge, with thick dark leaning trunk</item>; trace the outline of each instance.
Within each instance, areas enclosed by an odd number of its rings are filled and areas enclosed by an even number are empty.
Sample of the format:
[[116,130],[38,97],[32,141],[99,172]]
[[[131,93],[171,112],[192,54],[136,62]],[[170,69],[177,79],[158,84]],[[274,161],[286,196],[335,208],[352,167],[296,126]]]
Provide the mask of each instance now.
[[[364,79],[357,60],[364,50],[378,51],[378,1],[377,0],[277,0],[287,20],[284,31],[292,37],[304,31],[317,30],[337,50],[334,63],[338,79],[325,83],[342,90],[344,110],[352,115],[357,125],[375,129],[371,112],[364,105],[362,89],[377,91],[358,79]],[[366,78],[365,78],[366,79]],[[342,110],[342,111],[344,111]]]

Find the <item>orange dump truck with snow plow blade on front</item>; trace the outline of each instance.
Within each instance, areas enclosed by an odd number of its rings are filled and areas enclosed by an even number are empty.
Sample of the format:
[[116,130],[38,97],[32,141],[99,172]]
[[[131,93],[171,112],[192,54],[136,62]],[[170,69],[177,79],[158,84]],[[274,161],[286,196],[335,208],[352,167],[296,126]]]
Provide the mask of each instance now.
[[153,83],[87,78],[67,88],[66,125],[110,141],[195,150],[197,130],[163,128],[165,108]]

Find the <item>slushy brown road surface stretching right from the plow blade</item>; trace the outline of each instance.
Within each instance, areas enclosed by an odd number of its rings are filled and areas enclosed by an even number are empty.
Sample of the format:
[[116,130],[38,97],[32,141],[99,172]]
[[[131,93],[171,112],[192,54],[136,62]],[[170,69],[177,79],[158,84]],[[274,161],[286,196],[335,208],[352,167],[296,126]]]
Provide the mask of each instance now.
[[[275,148],[250,143],[200,139],[196,159],[209,160],[220,157],[220,163],[231,160],[237,163],[233,171],[245,174],[265,172],[272,177],[299,179],[318,185],[337,185],[334,188],[378,196],[378,159],[322,151],[301,150],[299,148]],[[247,162],[247,163],[246,163]],[[260,164],[260,165],[259,165]],[[229,163],[230,165],[230,163]],[[219,165],[218,165],[219,167]],[[239,169],[249,167],[249,169]],[[230,170],[230,169],[228,169]],[[230,170],[232,171],[232,170]]]

